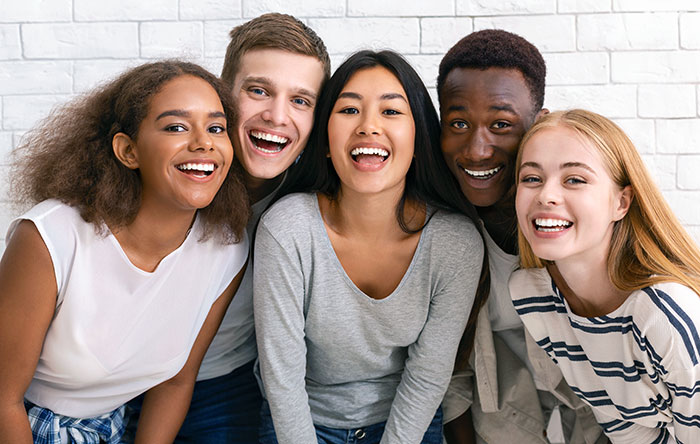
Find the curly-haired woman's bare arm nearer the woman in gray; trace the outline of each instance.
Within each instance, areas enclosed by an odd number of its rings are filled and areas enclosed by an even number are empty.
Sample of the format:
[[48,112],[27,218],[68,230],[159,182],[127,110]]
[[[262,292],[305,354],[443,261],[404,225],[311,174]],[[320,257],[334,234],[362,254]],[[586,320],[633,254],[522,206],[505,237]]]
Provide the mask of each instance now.
[[182,370],[146,392],[134,444],[171,443],[177,436],[190,406],[199,366],[244,273],[245,267],[212,305]]

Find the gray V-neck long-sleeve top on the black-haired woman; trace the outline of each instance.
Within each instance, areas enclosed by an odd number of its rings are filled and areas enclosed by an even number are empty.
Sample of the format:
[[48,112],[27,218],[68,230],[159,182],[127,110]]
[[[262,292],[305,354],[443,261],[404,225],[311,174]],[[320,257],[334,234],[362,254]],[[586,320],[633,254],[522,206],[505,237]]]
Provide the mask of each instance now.
[[280,444],[316,443],[314,423],[385,420],[382,444],[419,443],[450,381],[482,255],[471,221],[437,212],[397,288],[377,300],[343,270],[315,194],[287,196],[263,215],[255,328]]

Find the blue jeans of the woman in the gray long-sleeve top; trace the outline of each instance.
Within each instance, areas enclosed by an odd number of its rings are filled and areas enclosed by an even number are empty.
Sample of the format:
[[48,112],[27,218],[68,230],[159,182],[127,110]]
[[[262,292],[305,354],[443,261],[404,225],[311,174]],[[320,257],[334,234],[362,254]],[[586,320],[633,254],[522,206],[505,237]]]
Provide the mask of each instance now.
[[[319,444],[378,444],[385,426],[386,421],[357,429],[333,429],[314,424]],[[278,444],[267,401],[263,401],[260,409],[260,444]],[[435,413],[421,444],[442,444],[442,407]]]

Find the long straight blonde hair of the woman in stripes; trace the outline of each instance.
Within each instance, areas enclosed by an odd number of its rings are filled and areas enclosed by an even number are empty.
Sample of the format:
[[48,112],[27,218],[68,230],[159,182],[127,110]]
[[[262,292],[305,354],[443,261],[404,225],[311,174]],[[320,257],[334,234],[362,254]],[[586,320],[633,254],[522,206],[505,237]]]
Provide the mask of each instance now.
[[[679,282],[700,295],[700,250],[654,184],[632,141],[609,119],[581,109],[544,116],[520,142],[516,177],[528,140],[538,131],[556,126],[571,129],[589,140],[613,181],[621,188],[632,188],[630,209],[615,222],[610,242],[607,262],[612,284],[620,290],[633,291],[659,282]],[[518,246],[523,268],[544,266],[519,227]]]

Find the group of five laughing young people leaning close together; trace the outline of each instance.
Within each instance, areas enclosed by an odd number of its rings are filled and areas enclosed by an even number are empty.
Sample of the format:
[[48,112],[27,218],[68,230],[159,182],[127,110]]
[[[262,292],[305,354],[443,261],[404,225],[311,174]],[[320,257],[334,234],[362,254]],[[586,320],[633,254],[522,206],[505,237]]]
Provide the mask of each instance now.
[[700,439],[700,252],[613,122],[543,108],[532,44],[457,42],[438,117],[395,52],[230,38],[18,148],[0,443],[547,443],[555,408],[567,443]]

